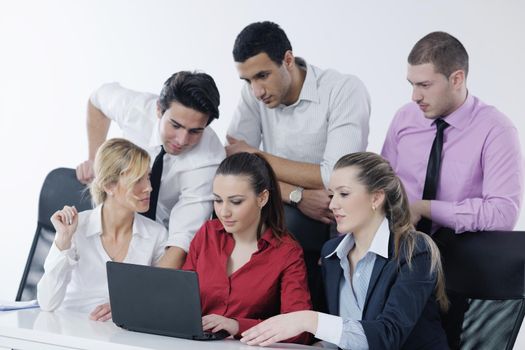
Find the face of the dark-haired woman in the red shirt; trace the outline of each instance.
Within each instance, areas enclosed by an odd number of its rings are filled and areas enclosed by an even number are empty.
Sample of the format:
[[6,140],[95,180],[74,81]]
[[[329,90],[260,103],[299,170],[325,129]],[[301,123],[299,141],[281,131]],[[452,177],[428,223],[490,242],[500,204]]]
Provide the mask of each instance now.
[[213,195],[215,214],[226,232],[257,234],[261,209],[268,201],[268,191],[257,195],[247,176],[217,175],[213,180]]

